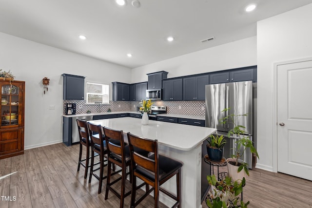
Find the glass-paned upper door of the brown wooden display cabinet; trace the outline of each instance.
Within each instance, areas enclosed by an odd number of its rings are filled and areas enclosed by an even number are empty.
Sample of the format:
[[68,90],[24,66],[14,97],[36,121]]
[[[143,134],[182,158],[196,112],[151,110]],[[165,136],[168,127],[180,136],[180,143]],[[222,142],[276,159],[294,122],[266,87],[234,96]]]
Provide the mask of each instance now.
[[18,84],[1,85],[1,126],[19,125],[20,87]]

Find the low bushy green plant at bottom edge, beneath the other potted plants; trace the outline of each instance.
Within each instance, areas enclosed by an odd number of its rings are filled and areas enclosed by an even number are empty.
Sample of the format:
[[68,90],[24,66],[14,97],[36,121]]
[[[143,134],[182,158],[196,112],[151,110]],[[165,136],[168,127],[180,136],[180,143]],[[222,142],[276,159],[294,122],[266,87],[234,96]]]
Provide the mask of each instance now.
[[230,177],[217,181],[215,175],[208,175],[207,180],[211,186],[206,197],[209,208],[247,208],[249,201],[244,203],[238,197],[246,184],[245,178],[232,182]]

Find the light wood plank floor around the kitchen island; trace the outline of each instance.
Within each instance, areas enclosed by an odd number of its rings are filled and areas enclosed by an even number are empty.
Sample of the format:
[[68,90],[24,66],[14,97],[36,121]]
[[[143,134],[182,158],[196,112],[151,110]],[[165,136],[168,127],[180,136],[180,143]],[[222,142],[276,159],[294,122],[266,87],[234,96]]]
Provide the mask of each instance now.
[[[78,145],[59,143],[0,160],[0,208],[118,208],[119,199],[111,192],[104,200],[106,181],[98,194],[98,180],[93,177],[88,184],[83,179],[84,168],[77,172],[78,149]],[[126,191],[130,187],[127,183]],[[243,191],[249,208],[312,208],[312,181],[282,173],[251,170]],[[124,207],[129,204],[130,196]],[[205,202],[202,206],[207,208]],[[138,206],[153,207],[152,197]]]

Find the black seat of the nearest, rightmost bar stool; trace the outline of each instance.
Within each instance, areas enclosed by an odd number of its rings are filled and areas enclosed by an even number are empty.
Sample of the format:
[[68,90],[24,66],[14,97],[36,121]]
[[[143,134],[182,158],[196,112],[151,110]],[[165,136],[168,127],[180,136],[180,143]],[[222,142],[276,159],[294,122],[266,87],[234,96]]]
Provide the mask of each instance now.
[[[154,154],[152,154],[148,158],[154,160],[154,157],[155,157]],[[182,167],[182,163],[174,159],[171,159],[169,157],[166,157],[164,155],[160,155],[160,154],[159,154],[158,162],[159,162],[159,180],[160,181]],[[144,175],[146,178],[148,178],[151,181],[155,181],[155,173],[150,170],[146,170],[137,165],[134,171],[137,171],[139,174]]]

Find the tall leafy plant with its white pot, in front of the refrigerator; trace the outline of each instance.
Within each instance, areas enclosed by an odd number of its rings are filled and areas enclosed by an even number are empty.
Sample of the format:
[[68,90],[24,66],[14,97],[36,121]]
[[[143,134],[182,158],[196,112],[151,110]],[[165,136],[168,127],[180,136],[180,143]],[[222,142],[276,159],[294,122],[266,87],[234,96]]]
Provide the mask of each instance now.
[[[229,110],[230,108],[226,108],[222,112],[226,112]],[[233,134],[235,134],[238,137],[234,146],[235,154],[233,155],[232,158],[228,158],[226,160],[228,166],[228,174],[233,181],[242,179],[247,175],[249,176],[248,164],[240,159],[240,157],[243,155],[243,153],[246,151],[247,148],[249,148],[251,153],[254,153],[259,158],[258,152],[254,148],[253,142],[250,140],[249,136],[245,135],[246,127],[237,125],[236,123],[237,118],[241,116],[248,116],[248,113],[238,115],[231,113],[220,120],[220,122],[223,124],[225,123],[234,124],[234,128],[228,132],[228,137],[230,137]],[[244,171],[241,172],[241,170]]]

